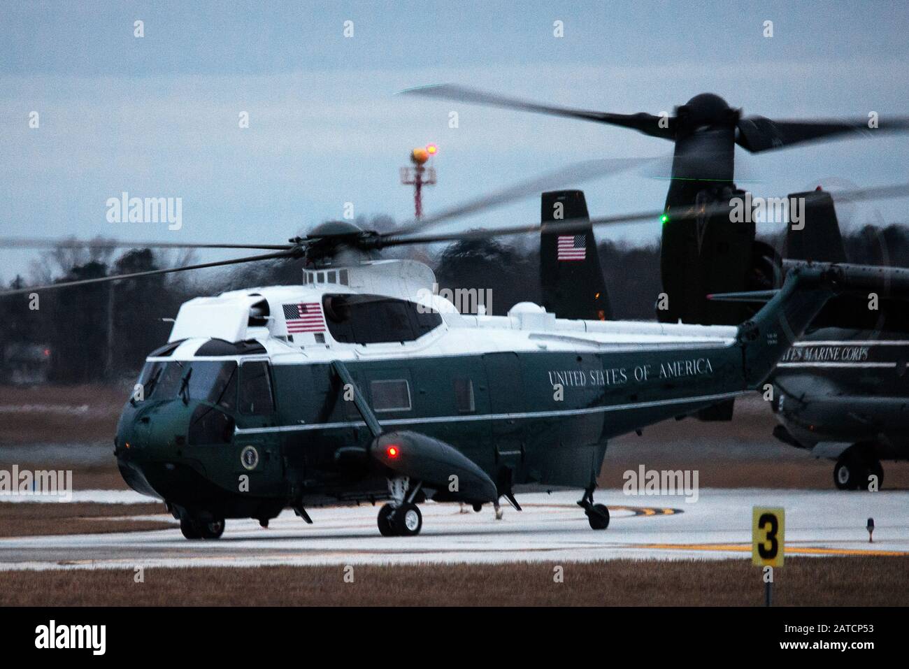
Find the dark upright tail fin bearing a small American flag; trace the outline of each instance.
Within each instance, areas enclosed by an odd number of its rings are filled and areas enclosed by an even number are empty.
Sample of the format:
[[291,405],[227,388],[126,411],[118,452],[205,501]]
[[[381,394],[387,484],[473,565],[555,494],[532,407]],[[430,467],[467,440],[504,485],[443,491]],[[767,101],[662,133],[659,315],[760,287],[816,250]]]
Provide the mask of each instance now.
[[[559,318],[605,321],[613,317],[584,191],[550,191],[540,202],[540,287],[546,311]],[[577,226],[547,232],[546,224]]]

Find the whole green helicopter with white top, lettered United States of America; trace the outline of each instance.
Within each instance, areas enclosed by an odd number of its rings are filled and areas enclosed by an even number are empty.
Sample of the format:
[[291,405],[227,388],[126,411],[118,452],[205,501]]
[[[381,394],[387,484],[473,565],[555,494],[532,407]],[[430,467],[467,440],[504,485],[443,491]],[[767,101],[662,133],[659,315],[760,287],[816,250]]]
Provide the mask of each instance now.
[[385,502],[380,534],[413,536],[426,500],[498,512],[504,498],[520,510],[515,494],[557,487],[583,490],[578,505],[604,530],[609,511],[594,490],[609,439],[754,390],[834,295],[884,280],[909,286],[909,271],[796,263],[737,326],[565,319],[530,303],[504,316],[463,315],[426,290],[435,283],[428,266],[376,257],[492,235],[574,238],[579,225],[652,215],[427,232],[520,190],[390,233],[330,222],[284,245],[199,245],[265,254],[0,295],[305,260],[300,285],[182,305],[117,424],[126,483],[162,499],[187,539],[216,539],[228,518],[267,526],[290,507],[312,523],[308,507],[376,502]]

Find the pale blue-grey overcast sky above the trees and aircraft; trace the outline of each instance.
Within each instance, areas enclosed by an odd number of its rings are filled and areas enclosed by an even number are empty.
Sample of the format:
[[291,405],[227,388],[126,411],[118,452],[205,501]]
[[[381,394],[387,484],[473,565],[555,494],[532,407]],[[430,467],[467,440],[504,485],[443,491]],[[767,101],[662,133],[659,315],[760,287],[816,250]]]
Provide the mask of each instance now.
[[[394,95],[415,85],[620,113],[671,112],[710,91],[772,118],[909,114],[904,2],[85,5],[0,3],[0,235],[283,242],[341,217],[346,202],[357,215],[412,215],[398,168],[428,142],[439,146],[439,183],[427,213],[585,158],[672,148],[619,128]],[[909,135],[737,149],[737,175],[756,195],[884,185],[909,180],[907,149]],[[592,215],[607,215],[659,208],[666,185],[631,173],[583,187]],[[105,201],[124,191],[181,197],[182,229],[108,223]],[[905,205],[876,209],[909,221]],[[873,215],[865,206],[850,218]],[[529,198],[464,225],[538,216]],[[658,234],[656,221],[598,232],[634,243]],[[36,255],[0,250],[0,280],[27,274]]]

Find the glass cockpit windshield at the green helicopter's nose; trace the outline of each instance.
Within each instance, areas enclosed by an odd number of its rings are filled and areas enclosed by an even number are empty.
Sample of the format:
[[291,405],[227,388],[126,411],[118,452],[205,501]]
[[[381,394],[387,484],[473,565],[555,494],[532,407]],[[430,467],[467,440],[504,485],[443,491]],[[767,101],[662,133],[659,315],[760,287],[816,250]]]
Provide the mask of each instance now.
[[177,396],[218,404],[228,411],[236,407],[234,361],[171,360],[148,362],[139,375],[144,399],[167,400]]

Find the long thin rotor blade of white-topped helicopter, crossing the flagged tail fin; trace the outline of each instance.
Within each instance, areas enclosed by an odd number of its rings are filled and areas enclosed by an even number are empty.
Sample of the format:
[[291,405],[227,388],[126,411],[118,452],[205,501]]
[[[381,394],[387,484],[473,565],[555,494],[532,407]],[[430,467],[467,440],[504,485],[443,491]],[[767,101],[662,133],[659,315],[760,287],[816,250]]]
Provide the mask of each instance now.
[[[853,191],[832,192],[830,194],[837,199],[849,200],[852,202],[862,200],[884,200],[893,197],[905,197],[909,195],[909,183],[898,185],[877,186],[874,188],[861,188]],[[729,211],[727,202],[717,202],[703,207],[691,207],[684,211],[673,211],[669,213],[669,220],[664,225],[673,225],[681,221],[693,221],[701,216],[712,216],[724,214]],[[633,214],[618,214],[611,216],[598,216],[589,219],[589,225],[621,225],[627,223],[636,223],[639,221],[657,221],[663,215],[663,209],[654,209],[647,212],[638,212]],[[565,221],[550,221],[546,224],[534,223],[530,225],[512,225],[497,228],[482,228],[474,230],[464,230],[452,233],[437,233],[435,235],[413,235],[399,237],[392,235],[382,240],[382,246],[399,246],[409,244],[435,244],[437,242],[459,242],[469,239],[485,239],[489,237],[501,237],[509,235],[524,235],[527,233],[536,233],[545,230],[547,233],[574,233],[578,228],[587,225],[587,219],[573,219]]]

